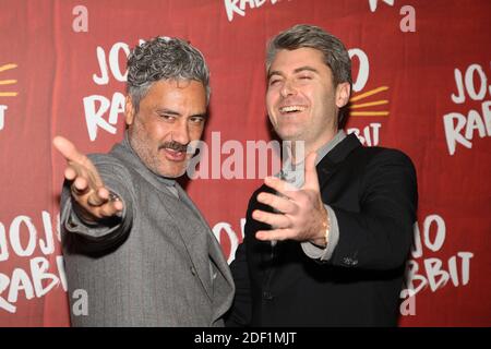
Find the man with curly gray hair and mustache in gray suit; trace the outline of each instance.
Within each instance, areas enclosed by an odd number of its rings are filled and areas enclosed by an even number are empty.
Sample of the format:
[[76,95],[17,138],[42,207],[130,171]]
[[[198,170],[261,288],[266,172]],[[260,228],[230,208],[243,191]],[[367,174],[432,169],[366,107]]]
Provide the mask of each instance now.
[[209,98],[203,56],[157,37],[128,59],[127,131],[108,154],[65,157],[61,233],[73,326],[221,326],[233,281],[202,215],[176,182]]

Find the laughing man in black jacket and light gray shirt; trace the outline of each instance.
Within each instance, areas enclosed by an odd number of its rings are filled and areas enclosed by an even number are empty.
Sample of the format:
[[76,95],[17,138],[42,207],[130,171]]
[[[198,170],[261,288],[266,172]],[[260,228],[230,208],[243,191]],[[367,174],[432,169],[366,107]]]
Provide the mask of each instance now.
[[417,209],[410,159],[343,131],[351,63],[333,35],[310,25],[280,33],[266,70],[270,120],[307,157],[250,200],[227,324],[396,325]]

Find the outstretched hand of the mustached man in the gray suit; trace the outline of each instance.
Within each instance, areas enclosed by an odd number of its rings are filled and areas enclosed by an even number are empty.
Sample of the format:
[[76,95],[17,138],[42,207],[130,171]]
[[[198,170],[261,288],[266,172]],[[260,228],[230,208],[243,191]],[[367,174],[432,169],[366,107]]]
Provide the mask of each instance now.
[[67,159],[64,178],[70,182],[70,192],[80,218],[86,222],[96,222],[119,215],[123,203],[111,197],[91,159],[62,136],[56,136],[52,144]]

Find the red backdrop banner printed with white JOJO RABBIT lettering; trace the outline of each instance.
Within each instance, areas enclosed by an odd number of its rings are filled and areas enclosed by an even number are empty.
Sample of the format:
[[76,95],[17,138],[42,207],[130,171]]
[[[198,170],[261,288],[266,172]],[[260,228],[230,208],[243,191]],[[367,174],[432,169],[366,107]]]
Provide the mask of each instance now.
[[265,44],[298,23],[349,49],[347,131],[416,165],[400,325],[490,326],[490,14],[488,0],[0,0],[0,326],[69,325],[51,140],[100,153],[122,139],[125,59],[149,37],[185,38],[209,64],[209,156],[187,189],[233,258],[264,177],[238,163],[272,140]]

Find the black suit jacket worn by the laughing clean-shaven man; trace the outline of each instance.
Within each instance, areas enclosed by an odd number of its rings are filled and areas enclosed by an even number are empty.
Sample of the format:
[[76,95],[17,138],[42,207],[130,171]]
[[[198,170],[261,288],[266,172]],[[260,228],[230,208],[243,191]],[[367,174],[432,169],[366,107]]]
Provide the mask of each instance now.
[[270,229],[252,219],[231,270],[236,297],[227,325],[393,326],[416,221],[417,183],[403,153],[362,147],[347,136],[318,165],[322,200],[335,212],[339,241],[328,262],[307,256],[299,242],[275,248],[255,239]]

